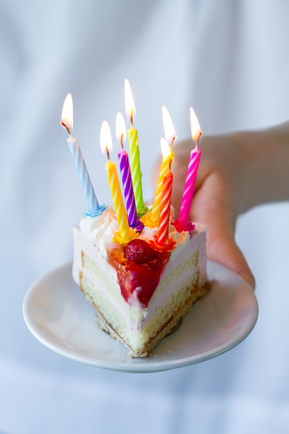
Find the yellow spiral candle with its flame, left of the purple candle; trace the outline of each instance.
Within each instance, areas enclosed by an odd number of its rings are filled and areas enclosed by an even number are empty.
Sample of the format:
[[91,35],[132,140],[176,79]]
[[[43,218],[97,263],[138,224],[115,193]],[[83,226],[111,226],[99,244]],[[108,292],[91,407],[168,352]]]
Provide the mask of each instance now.
[[107,181],[112,193],[112,202],[114,203],[116,220],[119,225],[119,232],[114,234],[112,241],[116,241],[117,243],[125,245],[137,237],[137,231],[128,225],[128,216],[123,204],[123,196],[121,194],[119,177],[117,176],[116,172],[116,164],[110,161],[110,150],[112,150],[112,134],[110,133],[110,126],[106,121],[103,122],[100,129],[100,146],[103,152],[107,153],[108,160],[105,164],[105,170],[107,172]]

